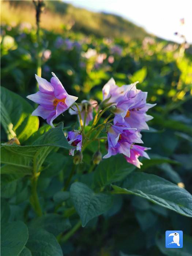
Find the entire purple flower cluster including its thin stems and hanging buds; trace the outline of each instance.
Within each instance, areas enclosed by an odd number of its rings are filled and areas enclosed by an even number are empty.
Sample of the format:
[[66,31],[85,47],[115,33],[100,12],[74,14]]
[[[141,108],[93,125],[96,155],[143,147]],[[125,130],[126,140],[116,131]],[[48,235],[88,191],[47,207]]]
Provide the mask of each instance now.
[[[105,110],[112,112],[109,117],[113,116],[113,119],[108,121],[108,117],[106,122],[104,121],[103,124],[98,125],[107,128],[108,153],[103,158],[123,154],[127,162],[140,168],[142,163],[138,158],[139,156],[149,158],[145,151],[150,148],[138,146],[135,143],[143,143],[140,132],[143,129],[149,129],[146,122],[153,118],[147,115],[146,112],[155,104],[146,103],[147,93],[136,89],[138,82],[118,87],[114,79],[110,79],[102,89],[103,101],[99,106],[95,100],[83,100],[81,103],[75,103],[78,98],[69,95],[57,76],[54,73],[52,75],[50,82],[35,75],[39,84],[39,91],[27,96],[27,98],[39,104],[32,115],[46,119],[52,127],[54,127],[53,120],[67,109],[69,109],[71,115],[78,115],[80,130],[69,131],[67,135],[68,143],[73,147],[69,150],[69,154],[74,156],[74,163],[78,164],[82,161],[82,147],[85,147],[87,143],[84,143],[83,138],[88,142],[99,139],[96,136],[90,140],[89,135],[92,130],[97,129],[95,125],[105,112],[104,107]],[[93,110],[97,113],[91,128],[88,133],[85,133],[85,127],[93,120]],[[100,160],[101,153],[97,151],[94,163],[98,164]]]

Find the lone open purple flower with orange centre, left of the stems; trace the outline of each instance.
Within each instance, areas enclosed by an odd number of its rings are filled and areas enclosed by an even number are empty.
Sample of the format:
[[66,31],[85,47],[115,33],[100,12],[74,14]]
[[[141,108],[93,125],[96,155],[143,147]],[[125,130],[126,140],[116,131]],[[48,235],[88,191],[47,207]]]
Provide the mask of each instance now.
[[28,95],[27,98],[39,104],[31,115],[46,119],[47,123],[54,127],[53,120],[67,110],[78,97],[69,95],[53,72],[52,75],[50,83],[35,75],[39,84],[39,91]]

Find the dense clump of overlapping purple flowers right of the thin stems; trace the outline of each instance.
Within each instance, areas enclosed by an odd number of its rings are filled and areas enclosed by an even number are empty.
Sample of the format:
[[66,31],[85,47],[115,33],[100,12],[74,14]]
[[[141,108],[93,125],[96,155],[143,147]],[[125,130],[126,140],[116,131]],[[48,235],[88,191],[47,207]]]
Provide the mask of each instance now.
[[149,158],[145,150],[150,148],[135,143],[143,143],[140,131],[149,129],[146,121],[153,117],[146,112],[155,104],[146,103],[147,93],[136,89],[136,84],[118,87],[112,78],[103,87],[103,101],[115,106],[114,124],[108,129],[108,154],[103,158],[120,153],[127,162],[140,168],[138,157]]

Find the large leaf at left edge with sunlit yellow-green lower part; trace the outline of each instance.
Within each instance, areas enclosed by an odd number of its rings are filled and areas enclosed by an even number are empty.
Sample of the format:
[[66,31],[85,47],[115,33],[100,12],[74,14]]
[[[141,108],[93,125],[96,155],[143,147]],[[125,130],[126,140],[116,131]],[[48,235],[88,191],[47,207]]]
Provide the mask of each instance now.
[[39,127],[37,116],[31,116],[33,107],[22,97],[1,87],[1,124],[8,140],[15,136],[22,143]]

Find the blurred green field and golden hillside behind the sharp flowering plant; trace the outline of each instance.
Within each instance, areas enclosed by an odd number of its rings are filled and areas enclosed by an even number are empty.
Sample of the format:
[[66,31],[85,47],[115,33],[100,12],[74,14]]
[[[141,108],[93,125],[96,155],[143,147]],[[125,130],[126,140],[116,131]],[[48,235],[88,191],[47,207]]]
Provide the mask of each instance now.
[[[148,102],[157,103],[149,111],[153,128],[143,132],[145,146],[152,148],[151,161],[143,159],[141,170],[192,192],[191,45],[185,40],[181,45],[167,42],[119,16],[61,1],[45,1],[40,26],[42,77],[49,80],[53,71],[79,101],[101,101],[101,89],[111,77],[118,86],[140,82],[138,89],[148,92]],[[35,92],[37,48],[33,3],[1,1],[1,86],[24,98]],[[74,117],[65,113],[57,120],[62,119],[70,125]],[[1,141],[6,140],[2,131]],[[48,197],[56,192],[58,182],[54,177]],[[186,234],[189,254],[178,255],[190,255],[189,218],[144,199],[117,196],[104,218],[91,221],[65,244],[64,254],[174,255],[165,250],[162,236],[171,229]]]

